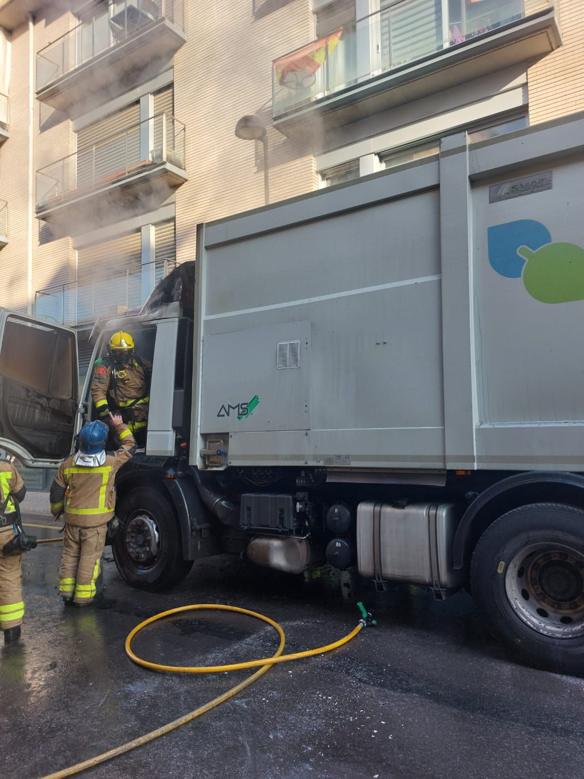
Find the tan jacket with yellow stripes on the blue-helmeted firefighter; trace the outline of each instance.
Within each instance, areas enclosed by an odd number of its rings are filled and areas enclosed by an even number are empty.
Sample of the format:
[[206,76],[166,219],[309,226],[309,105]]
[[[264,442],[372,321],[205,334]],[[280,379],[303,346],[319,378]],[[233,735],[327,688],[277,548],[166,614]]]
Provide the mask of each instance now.
[[[123,423],[114,428],[121,440],[117,452],[107,452],[103,465],[76,465],[75,455],[59,466],[51,485],[51,513],[65,512],[65,524],[77,527],[99,527],[111,520],[115,509],[115,474],[128,462],[135,440]],[[65,499],[65,491],[69,495]]]

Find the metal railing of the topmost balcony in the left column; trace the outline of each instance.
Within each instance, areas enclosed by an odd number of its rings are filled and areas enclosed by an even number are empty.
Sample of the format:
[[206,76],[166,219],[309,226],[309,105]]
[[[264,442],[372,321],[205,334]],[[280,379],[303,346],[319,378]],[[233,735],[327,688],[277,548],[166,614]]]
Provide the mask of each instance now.
[[183,29],[184,0],[115,0],[37,52],[37,90],[85,65],[158,19]]

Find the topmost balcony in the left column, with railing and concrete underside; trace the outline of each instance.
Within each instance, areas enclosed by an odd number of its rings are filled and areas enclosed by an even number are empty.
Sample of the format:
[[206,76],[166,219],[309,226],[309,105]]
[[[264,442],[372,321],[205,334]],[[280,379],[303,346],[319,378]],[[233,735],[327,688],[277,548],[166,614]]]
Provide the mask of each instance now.
[[[76,115],[159,72],[185,43],[184,0],[118,0],[37,53],[37,98]],[[113,91],[112,91],[113,90]]]

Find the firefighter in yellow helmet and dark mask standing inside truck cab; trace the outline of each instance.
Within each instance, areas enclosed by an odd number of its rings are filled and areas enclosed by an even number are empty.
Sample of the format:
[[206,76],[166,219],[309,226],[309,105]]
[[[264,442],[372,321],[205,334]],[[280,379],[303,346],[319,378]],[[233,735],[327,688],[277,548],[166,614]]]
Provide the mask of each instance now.
[[143,435],[148,424],[152,363],[135,355],[134,339],[119,330],[110,338],[106,357],[96,362],[91,396],[100,419],[110,411],[121,414],[133,435]]

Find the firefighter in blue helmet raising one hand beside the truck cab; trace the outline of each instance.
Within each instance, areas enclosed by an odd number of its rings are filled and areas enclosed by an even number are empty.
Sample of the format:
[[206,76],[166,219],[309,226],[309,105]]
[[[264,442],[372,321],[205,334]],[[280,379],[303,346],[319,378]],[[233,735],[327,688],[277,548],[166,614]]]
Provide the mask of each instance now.
[[98,420],[88,422],[79,432],[79,451],[62,462],[51,485],[55,521],[65,514],[59,569],[59,594],[65,605],[86,606],[95,597],[107,523],[114,517],[115,474],[135,449],[134,436],[121,416],[110,414],[110,421],[121,447],[106,453],[108,426]]

